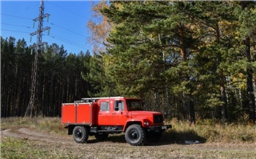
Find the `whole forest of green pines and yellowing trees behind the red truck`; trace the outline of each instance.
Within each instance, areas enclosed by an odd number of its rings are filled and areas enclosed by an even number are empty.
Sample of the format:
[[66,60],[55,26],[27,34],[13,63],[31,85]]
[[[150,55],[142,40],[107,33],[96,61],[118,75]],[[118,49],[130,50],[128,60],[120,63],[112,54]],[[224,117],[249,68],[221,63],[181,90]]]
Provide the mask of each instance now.
[[[39,55],[35,115],[61,103],[129,96],[166,119],[255,123],[256,1],[99,1],[87,23],[94,50]],[[1,117],[24,116],[34,45],[1,37]]]

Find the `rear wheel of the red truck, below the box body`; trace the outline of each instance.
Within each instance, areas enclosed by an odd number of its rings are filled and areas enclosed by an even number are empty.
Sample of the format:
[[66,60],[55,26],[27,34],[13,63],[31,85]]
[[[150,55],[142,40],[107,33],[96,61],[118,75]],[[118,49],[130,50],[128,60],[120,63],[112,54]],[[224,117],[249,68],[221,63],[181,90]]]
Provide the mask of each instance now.
[[77,143],[85,143],[89,138],[89,129],[83,126],[75,126],[73,138]]

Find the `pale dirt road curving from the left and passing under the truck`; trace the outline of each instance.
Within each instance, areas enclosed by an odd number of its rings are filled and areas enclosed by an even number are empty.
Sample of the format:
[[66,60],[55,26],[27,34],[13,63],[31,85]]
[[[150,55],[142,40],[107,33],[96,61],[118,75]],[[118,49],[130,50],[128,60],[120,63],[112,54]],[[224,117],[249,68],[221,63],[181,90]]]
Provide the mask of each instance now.
[[113,135],[103,142],[89,137],[88,143],[77,144],[72,136],[39,132],[33,128],[8,128],[1,131],[1,138],[4,141],[26,140],[31,143],[29,149],[54,152],[67,158],[256,158],[256,144],[171,144],[162,141],[132,147],[126,143],[124,135]]

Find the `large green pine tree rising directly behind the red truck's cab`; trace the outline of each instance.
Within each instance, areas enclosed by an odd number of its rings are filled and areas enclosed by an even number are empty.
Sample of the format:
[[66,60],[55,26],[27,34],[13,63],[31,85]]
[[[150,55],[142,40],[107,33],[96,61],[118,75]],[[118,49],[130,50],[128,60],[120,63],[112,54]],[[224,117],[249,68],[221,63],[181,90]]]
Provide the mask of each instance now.
[[[175,79],[182,79],[178,82],[184,87],[180,93],[186,93],[184,101],[188,105],[189,120],[195,123],[192,91],[188,85],[191,76],[188,61],[195,46],[189,20],[179,12],[180,7],[185,7],[184,3],[132,1],[115,2],[110,9],[104,9],[103,13],[115,25],[108,38],[107,53],[113,63],[108,70],[119,93],[140,97],[151,93],[156,97],[154,103],[159,105],[168,104],[169,90],[165,86],[173,79],[170,76],[176,76],[174,71],[182,74]],[[166,102],[159,103],[164,100]]]

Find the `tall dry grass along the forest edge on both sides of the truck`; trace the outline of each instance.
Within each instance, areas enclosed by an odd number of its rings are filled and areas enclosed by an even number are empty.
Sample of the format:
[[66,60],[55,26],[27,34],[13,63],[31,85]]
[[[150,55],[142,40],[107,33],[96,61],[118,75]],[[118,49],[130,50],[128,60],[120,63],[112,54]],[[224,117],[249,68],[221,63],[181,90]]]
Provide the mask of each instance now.
[[[187,122],[173,119],[167,121],[173,126],[164,133],[163,141],[182,143],[185,140],[200,142],[254,143],[256,142],[256,125],[220,124],[212,120],[197,121],[197,125],[189,126]],[[67,136],[67,129],[61,124],[59,117],[7,117],[1,118],[1,130],[13,127],[29,127],[37,131],[45,131]]]

